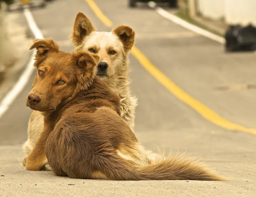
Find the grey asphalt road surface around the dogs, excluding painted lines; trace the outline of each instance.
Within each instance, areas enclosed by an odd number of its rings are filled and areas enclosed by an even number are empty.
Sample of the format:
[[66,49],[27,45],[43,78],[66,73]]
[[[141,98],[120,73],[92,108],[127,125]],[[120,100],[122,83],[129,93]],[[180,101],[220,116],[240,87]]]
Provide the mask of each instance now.
[[[129,9],[126,0],[95,0],[113,26],[136,31],[136,46],[169,79],[221,117],[256,128],[254,53],[226,54],[224,47],[158,15],[140,4]],[[165,7],[168,10],[168,8]],[[77,12],[89,17],[98,31],[111,29],[84,0],[54,0],[32,14],[44,37],[52,37],[64,51]],[[20,13],[20,20],[23,15]],[[23,22],[26,25],[25,20]],[[147,148],[186,151],[205,161],[227,182],[108,181],[55,177],[51,171],[26,171],[21,144],[31,110],[25,100],[34,76],[0,119],[0,196],[256,196],[256,136],[229,131],[201,117],[178,100],[131,55],[131,88],[139,98],[135,133]],[[75,184],[75,185],[68,185]]]

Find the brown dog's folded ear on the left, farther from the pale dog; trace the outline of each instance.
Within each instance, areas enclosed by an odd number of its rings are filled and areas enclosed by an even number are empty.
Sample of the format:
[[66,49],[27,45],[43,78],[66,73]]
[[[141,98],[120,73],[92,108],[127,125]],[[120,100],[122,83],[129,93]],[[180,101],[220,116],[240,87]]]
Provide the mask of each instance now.
[[46,58],[46,54],[49,52],[58,52],[59,46],[54,40],[50,39],[35,39],[32,46],[29,48],[37,49],[35,54],[35,63],[34,66],[38,66]]

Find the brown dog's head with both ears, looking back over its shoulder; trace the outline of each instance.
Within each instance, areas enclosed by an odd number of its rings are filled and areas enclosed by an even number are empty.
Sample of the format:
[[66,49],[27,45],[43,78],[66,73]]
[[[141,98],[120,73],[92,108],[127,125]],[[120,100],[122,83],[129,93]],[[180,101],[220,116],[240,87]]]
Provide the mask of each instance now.
[[86,52],[66,53],[52,39],[35,40],[30,49],[37,49],[37,68],[26,106],[38,111],[54,111],[86,90],[95,76],[96,61]]

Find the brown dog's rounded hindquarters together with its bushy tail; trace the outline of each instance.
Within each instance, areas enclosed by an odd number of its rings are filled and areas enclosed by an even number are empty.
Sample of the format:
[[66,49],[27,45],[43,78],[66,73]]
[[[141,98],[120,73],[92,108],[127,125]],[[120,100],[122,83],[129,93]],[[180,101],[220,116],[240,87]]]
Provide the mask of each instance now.
[[[102,121],[104,119],[105,121]],[[62,119],[47,140],[46,153],[58,176],[111,180],[223,180],[204,167],[178,157],[135,166],[116,150],[137,140],[110,108],[77,112]]]

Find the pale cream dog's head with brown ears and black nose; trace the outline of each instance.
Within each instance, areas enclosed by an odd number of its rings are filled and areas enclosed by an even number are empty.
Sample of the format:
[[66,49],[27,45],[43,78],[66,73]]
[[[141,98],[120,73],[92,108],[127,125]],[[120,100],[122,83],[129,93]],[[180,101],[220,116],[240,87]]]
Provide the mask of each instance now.
[[124,75],[134,37],[134,30],[128,26],[118,26],[111,32],[96,31],[81,12],[76,16],[72,34],[75,51],[90,51],[99,56],[96,74],[100,78]]

